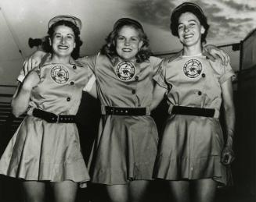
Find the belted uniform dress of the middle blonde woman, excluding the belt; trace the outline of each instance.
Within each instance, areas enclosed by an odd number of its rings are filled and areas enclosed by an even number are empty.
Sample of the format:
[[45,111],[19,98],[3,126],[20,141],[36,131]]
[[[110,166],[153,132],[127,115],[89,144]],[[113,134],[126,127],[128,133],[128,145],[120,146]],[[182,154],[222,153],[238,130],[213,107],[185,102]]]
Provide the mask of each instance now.
[[[157,126],[150,117],[153,75],[160,58],[146,62],[117,60],[105,55],[87,58],[96,76],[102,117],[89,170],[92,183],[125,184],[152,179],[157,155]],[[105,106],[146,108],[146,115],[106,115]]]

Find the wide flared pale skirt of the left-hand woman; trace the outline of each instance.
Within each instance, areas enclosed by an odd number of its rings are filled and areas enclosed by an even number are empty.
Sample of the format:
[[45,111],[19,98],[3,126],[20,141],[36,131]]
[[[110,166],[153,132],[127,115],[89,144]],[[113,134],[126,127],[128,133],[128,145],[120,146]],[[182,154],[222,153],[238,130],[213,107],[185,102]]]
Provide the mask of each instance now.
[[0,174],[52,183],[71,180],[85,187],[89,175],[77,126],[27,116],[2,154]]

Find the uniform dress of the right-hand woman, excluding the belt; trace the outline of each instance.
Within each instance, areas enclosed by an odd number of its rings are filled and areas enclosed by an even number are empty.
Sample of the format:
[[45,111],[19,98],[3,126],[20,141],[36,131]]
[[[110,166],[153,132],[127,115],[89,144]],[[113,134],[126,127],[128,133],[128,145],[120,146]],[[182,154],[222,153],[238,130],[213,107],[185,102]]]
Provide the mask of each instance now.
[[[230,66],[203,55],[165,59],[154,80],[167,89],[170,114],[160,141],[154,176],[159,179],[212,178],[227,183],[221,163],[224,147],[219,110],[222,83],[234,76]],[[214,108],[214,117],[171,114],[173,106]]]

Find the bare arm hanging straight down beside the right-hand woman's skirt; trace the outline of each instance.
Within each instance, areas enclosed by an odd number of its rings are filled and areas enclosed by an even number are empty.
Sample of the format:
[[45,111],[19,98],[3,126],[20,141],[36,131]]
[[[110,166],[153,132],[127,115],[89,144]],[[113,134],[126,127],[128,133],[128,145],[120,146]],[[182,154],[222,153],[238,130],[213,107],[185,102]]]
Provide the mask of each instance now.
[[222,163],[229,165],[234,159],[233,137],[235,129],[235,107],[231,79],[222,83],[222,98],[225,111],[225,131],[227,133],[227,141],[222,151]]

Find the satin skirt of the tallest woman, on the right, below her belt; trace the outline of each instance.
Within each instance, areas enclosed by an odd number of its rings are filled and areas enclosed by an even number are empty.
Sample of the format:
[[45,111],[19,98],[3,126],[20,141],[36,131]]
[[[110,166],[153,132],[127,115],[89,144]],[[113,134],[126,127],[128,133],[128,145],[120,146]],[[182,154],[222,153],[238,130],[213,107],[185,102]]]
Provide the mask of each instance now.
[[171,115],[160,141],[153,176],[166,180],[211,178],[225,186],[227,170],[221,162],[223,147],[218,119]]

